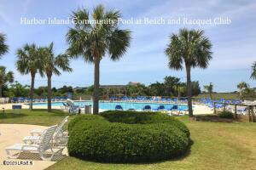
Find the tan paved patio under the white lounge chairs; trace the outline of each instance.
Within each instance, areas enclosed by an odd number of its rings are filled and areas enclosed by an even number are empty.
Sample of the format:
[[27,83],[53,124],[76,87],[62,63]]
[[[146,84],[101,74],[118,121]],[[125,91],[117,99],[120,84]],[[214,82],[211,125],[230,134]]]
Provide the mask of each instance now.
[[[37,125],[26,125],[26,124],[0,124],[0,169],[35,169],[41,170],[56,161],[60,161],[65,154],[67,155],[67,149],[63,150],[62,156],[55,156],[54,161],[41,161],[38,154],[20,154],[19,159],[9,159],[4,148],[12,144],[22,144],[24,136],[29,135],[32,129],[45,128]],[[3,162],[13,161],[32,161],[33,165],[3,165]]]

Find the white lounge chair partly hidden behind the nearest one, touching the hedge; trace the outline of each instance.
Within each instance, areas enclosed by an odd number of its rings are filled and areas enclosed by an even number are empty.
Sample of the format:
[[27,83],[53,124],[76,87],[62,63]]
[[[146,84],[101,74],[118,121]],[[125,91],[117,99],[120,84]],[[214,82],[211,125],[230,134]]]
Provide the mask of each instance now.
[[[63,132],[63,127],[67,122],[68,116],[61,122],[61,124],[56,128],[53,143],[54,146],[63,146],[67,144],[68,133]],[[32,133],[33,134],[33,133]],[[23,141],[25,144],[38,144],[38,142],[42,139],[42,136],[25,136]]]

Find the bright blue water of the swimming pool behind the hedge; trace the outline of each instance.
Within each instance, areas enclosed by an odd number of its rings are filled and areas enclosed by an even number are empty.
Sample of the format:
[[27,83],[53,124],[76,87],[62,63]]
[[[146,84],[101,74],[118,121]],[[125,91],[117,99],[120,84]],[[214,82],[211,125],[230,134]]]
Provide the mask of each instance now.
[[[36,103],[33,104],[35,106],[45,106],[47,107],[47,103]],[[51,104],[52,106],[62,106],[62,102],[55,102]],[[92,101],[75,101],[74,105],[79,105],[80,107],[84,107],[84,105],[92,105]],[[135,109],[135,110],[143,110],[145,105],[150,105],[153,110],[156,110],[160,105],[165,105],[166,109],[172,108],[173,104],[156,104],[156,103],[136,103],[136,102],[107,102],[101,101],[99,103],[99,108],[103,110],[114,110],[116,105],[121,105],[124,110]],[[187,109],[187,105],[178,105],[178,109]]]

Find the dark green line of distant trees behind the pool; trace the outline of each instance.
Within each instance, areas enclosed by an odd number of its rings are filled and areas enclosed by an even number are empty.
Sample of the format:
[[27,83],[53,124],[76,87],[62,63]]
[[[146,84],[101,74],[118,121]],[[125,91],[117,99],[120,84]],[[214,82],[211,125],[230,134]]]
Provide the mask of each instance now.
[[[77,87],[64,85],[61,88],[51,88],[52,97],[66,97],[67,93],[72,93],[74,98],[79,99],[79,96],[84,94],[93,95],[94,86]],[[14,97],[30,97],[31,88],[29,85],[22,85],[20,82],[14,82],[7,86],[3,85],[3,96]],[[46,98],[48,95],[48,87],[41,86],[33,89],[34,98]],[[186,83],[181,82],[177,77],[165,77],[164,82],[154,82],[148,86],[143,83],[134,85],[127,84],[122,88],[100,88],[99,95],[108,99],[110,97],[137,97],[137,96],[166,96],[166,97],[186,97]],[[192,94],[197,96],[201,94],[201,88],[198,81],[192,82]]]

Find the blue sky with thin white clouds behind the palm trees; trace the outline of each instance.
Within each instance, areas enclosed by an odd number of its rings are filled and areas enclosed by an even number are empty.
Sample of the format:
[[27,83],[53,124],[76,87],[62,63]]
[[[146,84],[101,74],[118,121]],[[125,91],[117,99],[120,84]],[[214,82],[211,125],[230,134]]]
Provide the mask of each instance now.
[[[250,66],[256,60],[256,2],[254,0],[0,0],[0,32],[7,35],[9,54],[0,60],[10,71],[15,72],[15,80],[30,84],[29,76],[21,76],[15,70],[15,51],[26,42],[48,45],[55,42],[55,54],[67,48],[65,35],[72,25],[20,25],[20,17],[27,19],[66,19],[79,7],[92,9],[98,4],[106,8],[116,8],[125,20],[134,19],[177,19],[207,20],[229,18],[230,25],[122,25],[132,31],[131,47],[118,62],[106,56],[101,63],[101,84],[126,84],[127,82],[162,82],[165,76],[182,77],[185,71],[173,71],[167,67],[164,54],[168,37],[183,27],[203,29],[212,41],[212,60],[207,70],[192,70],[192,79],[201,86],[212,82],[218,92],[234,91],[238,82],[249,82],[255,87],[256,81],[249,79]],[[93,65],[82,59],[71,63],[73,73],[63,72],[61,77],[53,77],[53,86],[64,84],[88,86],[93,83]],[[46,86],[45,77],[36,78],[36,86]]]

